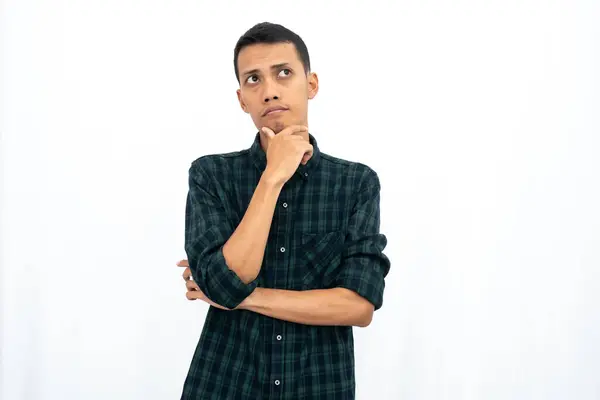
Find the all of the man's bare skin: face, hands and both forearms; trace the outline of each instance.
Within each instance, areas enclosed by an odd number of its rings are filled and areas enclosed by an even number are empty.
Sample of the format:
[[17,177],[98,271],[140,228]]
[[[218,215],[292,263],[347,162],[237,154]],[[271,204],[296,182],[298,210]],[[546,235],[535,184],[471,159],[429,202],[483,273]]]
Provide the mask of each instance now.
[[[267,167],[248,210],[223,247],[228,267],[244,282],[260,273],[264,248],[277,197],[299,163],[312,156],[308,135],[308,100],[319,90],[314,72],[305,71],[291,43],[254,44],[238,56],[240,87],[237,97],[260,132]],[[285,110],[265,115],[269,107]],[[188,300],[211,301],[193,281],[187,260],[184,268]],[[306,325],[366,327],[373,318],[373,305],[345,288],[293,291],[257,287],[236,310],[249,310],[272,318]],[[232,311],[232,310],[228,310]]]

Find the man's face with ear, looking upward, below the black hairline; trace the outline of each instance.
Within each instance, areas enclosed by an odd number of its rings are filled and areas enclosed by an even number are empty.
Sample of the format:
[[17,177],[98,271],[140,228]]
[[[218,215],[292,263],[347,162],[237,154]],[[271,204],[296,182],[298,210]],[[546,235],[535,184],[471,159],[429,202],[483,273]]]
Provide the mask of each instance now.
[[[318,79],[306,74],[292,43],[253,44],[238,55],[240,106],[257,129],[275,133],[290,125],[308,126],[308,100],[316,96]],[[270,109],[278,110],[269,112]]]

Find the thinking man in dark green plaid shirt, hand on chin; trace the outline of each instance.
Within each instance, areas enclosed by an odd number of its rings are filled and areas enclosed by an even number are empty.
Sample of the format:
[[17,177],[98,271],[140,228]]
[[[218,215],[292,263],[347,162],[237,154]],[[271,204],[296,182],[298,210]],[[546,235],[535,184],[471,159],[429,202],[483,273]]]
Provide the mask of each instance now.
[[381,307],[390,268],[378,176],[309,133],[319,85],[298,35],[252,27],[234,68],[258,132],[189,170],[178,265],[187,298],[211,307],[181,398],[353,399],[352,326]]

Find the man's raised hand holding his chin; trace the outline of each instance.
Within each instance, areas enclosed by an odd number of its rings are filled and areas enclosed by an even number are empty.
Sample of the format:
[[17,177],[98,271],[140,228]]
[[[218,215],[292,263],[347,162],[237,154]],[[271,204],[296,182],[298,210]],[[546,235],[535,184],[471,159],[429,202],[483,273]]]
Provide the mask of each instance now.
[[308,128],[292,125],[276,135],[264,127],[262,132],[268,140],[265,175],[278,184],[284,184],[294,175],[300,163],[306,164],[312,157],[313,146],[302,136],[308,133]]

